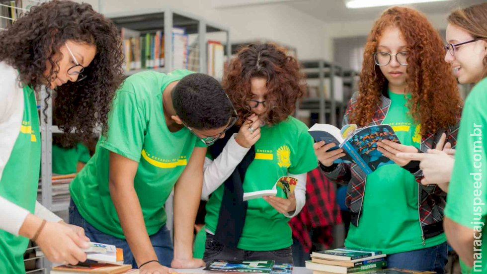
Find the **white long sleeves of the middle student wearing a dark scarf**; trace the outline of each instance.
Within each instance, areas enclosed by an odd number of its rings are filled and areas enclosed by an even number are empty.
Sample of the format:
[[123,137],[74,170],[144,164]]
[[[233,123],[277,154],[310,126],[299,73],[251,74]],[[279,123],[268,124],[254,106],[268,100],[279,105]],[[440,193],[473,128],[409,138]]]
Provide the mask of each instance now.
[[[213,161],[208,157],[205,158],[203,188],[201,191],[201,199],[208,200],[209,196],[215,191],[225,180],[227,180],[237,166],[242,162],[243,157],[248,152],[249,148],[244,148],[237,143],[234,133],[232,137],[222,150],[222,153]],[[306,176],[307,173],[289,176],[298,179],[296,188],[294,189],[294,196],[296,198],[296,210],[284,214],[284,216],[292,218],[301,212],[306,202]]]

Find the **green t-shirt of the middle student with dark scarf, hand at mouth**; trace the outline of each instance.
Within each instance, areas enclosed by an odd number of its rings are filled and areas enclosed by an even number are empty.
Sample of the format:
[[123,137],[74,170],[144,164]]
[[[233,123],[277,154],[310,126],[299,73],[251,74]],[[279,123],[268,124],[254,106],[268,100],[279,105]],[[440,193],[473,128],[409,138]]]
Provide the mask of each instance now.
[[[255,159],[243,180],[243,191],[271,189],[277,180],[290,174],[307,173],[318,166],[308,127],[294,117],[274,126],[261,128],[255,143]],[[277,196],[285,197],[277,187]],[[206,204],[206,228],[215,232],[220,214],[224,184],[215,190]],[[277,212],[264,199],[248,201],[245,224],[238,248],[268,251],[287,248],[292,244],[289,218]],[[264,228],[264,229],[263,229]]]

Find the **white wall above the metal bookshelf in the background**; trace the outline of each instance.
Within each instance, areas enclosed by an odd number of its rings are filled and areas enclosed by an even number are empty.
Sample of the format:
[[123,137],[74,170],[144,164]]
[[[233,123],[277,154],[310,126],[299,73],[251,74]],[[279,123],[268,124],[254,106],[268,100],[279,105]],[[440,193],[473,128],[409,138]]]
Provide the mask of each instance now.
[[[81,0],[79,0],[81,1]],[[84,0],[98,10],[98,0]],[[212,0],[103,0],[104,14],[171,7],[229,27],[232,41],[265,38],[297,48],[299,59],[325,56],[325,22],[284,3],[213,8]],[[212,36],[209,36],[212,38]]]

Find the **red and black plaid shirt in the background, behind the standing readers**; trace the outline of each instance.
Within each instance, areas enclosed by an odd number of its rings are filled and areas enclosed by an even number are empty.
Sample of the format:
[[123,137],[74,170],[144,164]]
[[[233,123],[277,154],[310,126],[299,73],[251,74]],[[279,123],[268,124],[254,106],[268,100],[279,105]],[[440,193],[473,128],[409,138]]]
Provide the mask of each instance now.
[[341,223],[340,208],[335,201],[335,188],[319,168],[308,173],[306,182],[306,204],[303,210],[289,221],[293,237],[309,252],[312,247],[311,228],[320,243],[329,247],[333,242],[332,225]]

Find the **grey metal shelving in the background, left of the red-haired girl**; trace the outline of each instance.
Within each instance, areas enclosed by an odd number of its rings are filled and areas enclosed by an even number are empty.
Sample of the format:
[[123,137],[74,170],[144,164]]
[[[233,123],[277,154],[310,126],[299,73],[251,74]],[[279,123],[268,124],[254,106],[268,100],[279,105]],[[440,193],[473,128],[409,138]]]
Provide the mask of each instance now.
[[[318,98],[304,98],[300,105],[300,109],[311,110],[312,112],[319,113],[319,122],[338,125],[337,114],[340,115],[340,109],[343,108],[343,102],[335,100],[335,84],[334,77],[343,77],[342,68],[332,62],[325,61],[323,59],[304,60],[301,61],[303,66],[303,72],[306,74],[307,79],[318,79],[319,88]],[[325,98],[325,79],[329,79],[329,99]],[[338,113],[337,113],[338,110]],[[330,120],[326,121],[326,113],[330,114]]]

